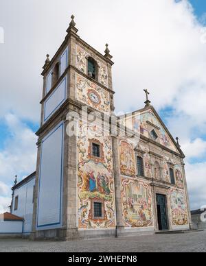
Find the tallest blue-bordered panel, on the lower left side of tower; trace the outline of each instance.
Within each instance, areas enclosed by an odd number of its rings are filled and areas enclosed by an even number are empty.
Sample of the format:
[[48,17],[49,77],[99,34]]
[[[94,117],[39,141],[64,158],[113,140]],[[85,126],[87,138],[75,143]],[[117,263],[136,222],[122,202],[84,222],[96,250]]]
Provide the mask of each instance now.
[[62,227],[64,123],[43,139],[38,184],[37,230]]

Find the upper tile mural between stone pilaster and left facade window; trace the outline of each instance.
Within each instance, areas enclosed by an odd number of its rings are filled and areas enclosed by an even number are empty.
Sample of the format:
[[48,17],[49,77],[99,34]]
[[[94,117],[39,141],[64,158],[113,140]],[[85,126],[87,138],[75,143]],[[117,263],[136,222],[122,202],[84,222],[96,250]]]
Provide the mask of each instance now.
[[133,145],[126,140],[119,143],[120,171],[124,176],[135,177],[135,152]]

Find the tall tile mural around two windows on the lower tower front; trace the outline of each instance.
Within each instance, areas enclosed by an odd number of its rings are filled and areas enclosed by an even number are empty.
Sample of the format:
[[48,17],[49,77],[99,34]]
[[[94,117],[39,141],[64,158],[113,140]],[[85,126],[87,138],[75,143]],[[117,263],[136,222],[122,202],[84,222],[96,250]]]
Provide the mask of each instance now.
[[[89,138],[88,132],[93,138]],[[101,146],[100,158],[91,154],[91,141]],[[94,202],[102,204],[102,217],[94,217]],[[115,195],[111,137],[95,126],[80,122],[78,136],[78,227],[115,227]]]

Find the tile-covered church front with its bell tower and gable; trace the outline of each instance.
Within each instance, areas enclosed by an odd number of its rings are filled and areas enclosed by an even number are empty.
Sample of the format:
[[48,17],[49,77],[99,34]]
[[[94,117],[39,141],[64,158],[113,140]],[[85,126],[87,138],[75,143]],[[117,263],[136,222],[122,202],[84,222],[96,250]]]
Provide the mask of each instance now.
[[178,139],[147,90],[144,108],[115,116],[112,66],[108,45],[103,56],[85,43],[72,16],[43,67],[32,239],[190,229]]

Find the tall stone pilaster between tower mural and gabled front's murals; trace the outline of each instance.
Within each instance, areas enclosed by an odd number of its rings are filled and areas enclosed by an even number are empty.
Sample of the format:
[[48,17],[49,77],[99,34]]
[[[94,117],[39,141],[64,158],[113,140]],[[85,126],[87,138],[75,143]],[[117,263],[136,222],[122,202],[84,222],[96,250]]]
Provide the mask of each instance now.
[[124,232],[124,224],[122,219],[122,197],[121,197],[121,176],[119,169],[119,156],[118,156],[118,138],[112,136],[113,143],[113,171],[115,180],[115,203],[116,203],[116,237]]

